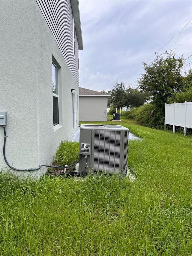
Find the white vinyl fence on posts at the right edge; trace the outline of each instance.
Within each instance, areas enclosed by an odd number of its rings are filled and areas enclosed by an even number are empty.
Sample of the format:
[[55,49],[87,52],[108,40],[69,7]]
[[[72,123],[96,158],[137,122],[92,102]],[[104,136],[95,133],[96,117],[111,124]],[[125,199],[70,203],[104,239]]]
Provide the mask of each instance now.
[[165,127],[173,125],[173,133],[175,127],[184,127],[184,135],[187,128],[192,128],[192,102],[165,104]]

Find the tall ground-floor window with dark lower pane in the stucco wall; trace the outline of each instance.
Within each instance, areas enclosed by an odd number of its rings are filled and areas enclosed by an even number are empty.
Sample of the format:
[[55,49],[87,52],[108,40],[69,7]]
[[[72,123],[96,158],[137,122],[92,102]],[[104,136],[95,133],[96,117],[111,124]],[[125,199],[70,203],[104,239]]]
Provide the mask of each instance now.
[[59,123],[58,68],[52,62],[53,125]]

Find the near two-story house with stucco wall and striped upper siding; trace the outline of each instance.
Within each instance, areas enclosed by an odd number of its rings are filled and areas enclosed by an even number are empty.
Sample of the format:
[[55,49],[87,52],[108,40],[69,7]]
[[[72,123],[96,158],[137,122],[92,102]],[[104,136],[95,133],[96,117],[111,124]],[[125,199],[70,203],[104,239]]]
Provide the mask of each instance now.
[[[18,169],[51,164],[60,141],[79,123],[78,0],[1,1],[0,24],[7,161]],[[7,166],[3,140],[0,126],[0,170]]]

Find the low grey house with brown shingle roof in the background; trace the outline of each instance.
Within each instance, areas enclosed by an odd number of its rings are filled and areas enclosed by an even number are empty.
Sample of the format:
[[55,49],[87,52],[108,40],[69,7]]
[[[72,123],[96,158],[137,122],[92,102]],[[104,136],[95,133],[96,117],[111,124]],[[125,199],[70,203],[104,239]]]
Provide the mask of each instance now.
[[107,121],[110,94],[79,87],[79,121]]

